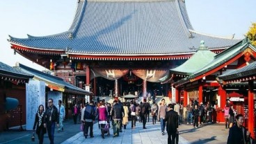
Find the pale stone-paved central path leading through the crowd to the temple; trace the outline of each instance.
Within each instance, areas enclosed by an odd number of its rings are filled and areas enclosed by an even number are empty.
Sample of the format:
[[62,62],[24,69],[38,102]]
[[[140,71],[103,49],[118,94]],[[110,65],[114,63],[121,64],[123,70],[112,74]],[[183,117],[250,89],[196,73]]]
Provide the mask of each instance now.
[[[150,144],[150,143],[167,143],[167,134],[162,136],[161,135],[161,126],[158,122],[157,125],[152,125],[152,121],[146,124],[147,129],[143,129],[142,123],[136,123],[136,128],[131,129],[131,122],[129,121],[129,125],[127,125],[127,129],[122,129],[122,133],[120,136],[113,138],[113,129],[111,127],[110,133],[111,136],[106,136],[102,139],[100,129],[97,124],[94,125],[94,138],[88,137],[87,139],[84,138],[83,132],[79,132],[75,136],[68,138],[67,141],[64,141],[63,144],[70,144],[70,143],[93,143],[93,144],[104,144],[104,143],[111,143],[111,144]],[[179,136],[179,143],[187,144],[189,143],[186,141],[182,136]]]

